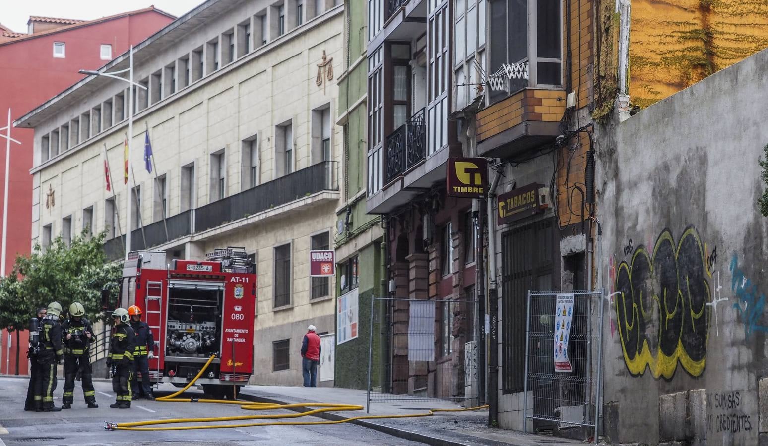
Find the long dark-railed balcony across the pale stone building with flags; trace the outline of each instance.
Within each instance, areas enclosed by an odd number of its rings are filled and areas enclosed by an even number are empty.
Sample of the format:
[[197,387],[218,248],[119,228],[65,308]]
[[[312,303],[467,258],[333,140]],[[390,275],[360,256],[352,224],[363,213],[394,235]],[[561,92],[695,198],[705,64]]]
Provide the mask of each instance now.
[[[200,206],[196,210],[177,213],[166,219],[167,236],[163,220],[144,226],[143,233],[141,229],[134,230],[131,232],[131,249],[153,249],[186,236],[190,236],[191,239],[195,236],[204,237],[206,231],[227,223],[246,219],[310,197],[323,190],[339,190],[337,164],[336,161],[322,161],[222,200]],[[104,243],[104,252],[108,259],[117,260],[124,256],[124,240],[125,237],[121,236]]]

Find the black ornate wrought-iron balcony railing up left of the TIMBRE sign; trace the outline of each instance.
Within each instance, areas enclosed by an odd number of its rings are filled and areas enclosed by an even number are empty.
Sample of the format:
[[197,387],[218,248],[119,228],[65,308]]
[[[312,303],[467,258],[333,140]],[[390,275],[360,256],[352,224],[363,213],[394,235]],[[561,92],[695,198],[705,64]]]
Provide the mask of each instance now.
[[386,137],[386,183],[391,183],[424,160],[425,134],[422,108]]

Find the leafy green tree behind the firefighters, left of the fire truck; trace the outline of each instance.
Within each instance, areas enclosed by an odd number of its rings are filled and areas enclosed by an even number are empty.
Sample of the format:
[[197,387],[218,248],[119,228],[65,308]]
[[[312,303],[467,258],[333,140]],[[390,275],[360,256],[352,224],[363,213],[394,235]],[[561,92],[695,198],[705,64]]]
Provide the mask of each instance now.
[[[71,302],[80,302],[91,321],[101,319],[101,289],[118,282],[120,263],[108,263],[104,236],[83,231],[69,246],[58,237],[46,249],[35,245],[29,256],[18,256],[14,273],[0,280],[0,326],[16,331],[27,328],[35,309],[57,301],[67,312]],[[18,375],[18,351],[16,356]]]

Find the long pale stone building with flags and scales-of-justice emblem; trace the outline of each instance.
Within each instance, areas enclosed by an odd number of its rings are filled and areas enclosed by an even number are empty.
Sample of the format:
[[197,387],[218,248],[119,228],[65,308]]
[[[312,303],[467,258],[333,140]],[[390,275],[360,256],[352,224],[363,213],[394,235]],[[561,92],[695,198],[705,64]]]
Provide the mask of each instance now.
[[[209,0],[134,49],[147,91],[134,88],[131,247],[168,259],[245,247],[259,281],[258,384],[300,384],[306,326],[334,331],[334,279],[310,277],[309,251],[333,248],[343,31],[336,0]],[[100,71],[127,66],[126,53]],[[91,227],[123,255],[127,85],[89,76],[16,121],[35,128],[33,244]]]

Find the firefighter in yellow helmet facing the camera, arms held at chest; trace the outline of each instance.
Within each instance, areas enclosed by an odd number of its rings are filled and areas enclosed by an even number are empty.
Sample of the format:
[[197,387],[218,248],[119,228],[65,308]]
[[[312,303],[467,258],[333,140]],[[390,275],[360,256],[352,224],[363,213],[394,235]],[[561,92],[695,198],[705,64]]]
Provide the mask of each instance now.
[[74,400],[74,377],[80,372],[83,383],[83,396],[88,408],[98,408],[96,391],[91,379],[91,342],[95,341],[91,322],[85,319],[85,308],[80,302],[69,306],[69,319],[61,325],[64,332],[64,398],[62,409],[72,407]]

